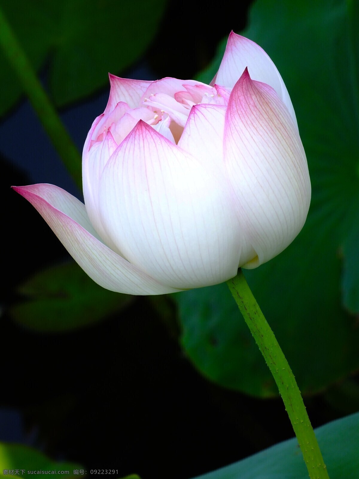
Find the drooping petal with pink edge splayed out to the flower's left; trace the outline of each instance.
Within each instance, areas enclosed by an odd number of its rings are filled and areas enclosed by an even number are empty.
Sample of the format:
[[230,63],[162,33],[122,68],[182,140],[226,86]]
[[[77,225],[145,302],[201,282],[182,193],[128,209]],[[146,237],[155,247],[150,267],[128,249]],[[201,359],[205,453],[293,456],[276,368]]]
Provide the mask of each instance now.
[[97,284],[133,295],[176,291],[159,284],[101,243],[90,225],[85,205],[74,196],[52,184],[13,188],[34,205],[67,251]]

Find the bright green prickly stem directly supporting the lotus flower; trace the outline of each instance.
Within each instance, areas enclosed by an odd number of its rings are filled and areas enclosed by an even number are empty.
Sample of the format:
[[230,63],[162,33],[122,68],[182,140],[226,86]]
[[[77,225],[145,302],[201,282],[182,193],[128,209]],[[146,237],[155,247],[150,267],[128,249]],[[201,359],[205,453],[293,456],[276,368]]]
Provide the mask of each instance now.
[[312,425],[305,409],[301,392],[292,370],[280,349],[258,303],[241,270],[227,281],[233,297],[278,386],[285,409],[303,453],[311,479],[329,479]]

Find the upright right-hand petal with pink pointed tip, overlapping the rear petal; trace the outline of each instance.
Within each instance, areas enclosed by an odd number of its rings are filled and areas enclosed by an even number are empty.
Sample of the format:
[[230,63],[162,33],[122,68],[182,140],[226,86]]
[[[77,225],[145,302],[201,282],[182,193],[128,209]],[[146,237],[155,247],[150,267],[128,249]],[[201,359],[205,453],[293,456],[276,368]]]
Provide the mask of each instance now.
[[284,103],[247,69],[228,103],[224,158],[255,267],[284,250],[303,227],[311,187],[298,130]]

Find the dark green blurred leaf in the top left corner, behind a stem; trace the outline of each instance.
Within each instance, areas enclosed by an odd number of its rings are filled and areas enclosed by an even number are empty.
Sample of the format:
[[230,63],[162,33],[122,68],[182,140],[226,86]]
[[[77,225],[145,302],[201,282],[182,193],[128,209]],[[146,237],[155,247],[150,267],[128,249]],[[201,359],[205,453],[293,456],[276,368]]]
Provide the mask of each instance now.
[[[167,0],[0,0],[34,68],[48,63],[49,90],[57,106],[108,84],[143,55],[157,32]],[[0,52],[0,115],[22,88]]]

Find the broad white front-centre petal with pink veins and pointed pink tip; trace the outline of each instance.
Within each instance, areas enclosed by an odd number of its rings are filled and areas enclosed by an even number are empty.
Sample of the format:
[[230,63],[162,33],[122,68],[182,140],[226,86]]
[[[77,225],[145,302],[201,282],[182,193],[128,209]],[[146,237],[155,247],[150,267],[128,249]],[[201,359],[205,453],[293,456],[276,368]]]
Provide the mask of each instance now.
[[102,222],[133,264],[192,288],[236,275],[239,224],[224,179],[140,121],[102,175]]

